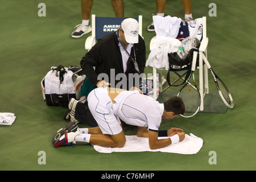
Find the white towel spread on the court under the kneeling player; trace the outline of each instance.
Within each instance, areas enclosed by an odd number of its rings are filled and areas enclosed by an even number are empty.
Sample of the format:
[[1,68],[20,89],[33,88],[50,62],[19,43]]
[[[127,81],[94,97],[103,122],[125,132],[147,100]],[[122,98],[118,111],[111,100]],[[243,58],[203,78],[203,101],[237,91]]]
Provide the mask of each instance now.
[[[94,149],[101,153],[112,152],[170,152],[176,154],[196,154],[203,146],[203,139],[196,137],[192,133],[190,135],[185,134],[185,139],[182,142],[171,144],[170,146],[151,150],[148,145],[148,138],[140,138],[135,135],[125,136],[126,143],[122,148],[101,147],[94,145]],[[159,139],[168,138],[160,137]]]

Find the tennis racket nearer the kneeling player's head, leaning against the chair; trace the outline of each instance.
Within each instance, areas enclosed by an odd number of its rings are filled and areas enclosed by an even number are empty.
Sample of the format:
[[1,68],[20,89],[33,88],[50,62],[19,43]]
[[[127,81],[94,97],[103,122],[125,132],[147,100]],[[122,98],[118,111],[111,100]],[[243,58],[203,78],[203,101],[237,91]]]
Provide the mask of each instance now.
[[[184,84],[184,86],[180,89],[180,92],[177,94],[177,97],[180,97],[185,104],[185,113],[181,114],[181,117],[184,117],[184,118],[191,118],[194,115],[196,115],[196,113],[198,113],[199,111],[200,104],[201,104],[200,92],[199,92],[199,89],[197,88],[196,80],[195,80],[196,57],[197,57],[197,52],[194,51],[191,74],[188,77],[187,82]],[[189,80],[192,75],[193,75],[193,85],[189,83]]]

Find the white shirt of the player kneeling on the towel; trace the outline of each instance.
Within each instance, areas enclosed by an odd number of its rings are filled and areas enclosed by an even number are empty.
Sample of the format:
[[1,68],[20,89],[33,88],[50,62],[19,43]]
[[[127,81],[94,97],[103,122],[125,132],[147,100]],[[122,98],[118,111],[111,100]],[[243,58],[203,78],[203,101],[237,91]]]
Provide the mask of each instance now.
[[158,131],[162,122],[163,104],[159,104],[152,97],[139,94],[138,91],[126,96],[129,93],[130,91],[123,91],[114,98],[114,114],[128,125]]

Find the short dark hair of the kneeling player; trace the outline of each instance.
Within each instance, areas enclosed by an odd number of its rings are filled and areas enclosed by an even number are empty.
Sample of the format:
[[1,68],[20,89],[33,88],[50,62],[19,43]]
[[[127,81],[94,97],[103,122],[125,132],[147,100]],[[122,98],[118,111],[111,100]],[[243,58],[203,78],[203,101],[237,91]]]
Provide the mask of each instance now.
[[174,112],[174,115],[184,114],[185,105],[180,97],[171,97],[166,102],[164,102],[164,110],[167,112]]

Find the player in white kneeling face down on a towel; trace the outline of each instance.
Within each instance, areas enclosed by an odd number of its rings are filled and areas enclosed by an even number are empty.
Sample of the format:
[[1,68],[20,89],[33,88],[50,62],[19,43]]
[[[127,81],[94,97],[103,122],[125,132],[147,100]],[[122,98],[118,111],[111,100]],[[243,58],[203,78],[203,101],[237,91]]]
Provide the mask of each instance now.
[[128,125],[138,126],[137,136],[147,137],[151,149],[166,147],[185,138],[181,129],[158,130],[162,119],[173,119],[184,114],[184,102],[179,97],[171,97],[160,104],[149,96],[139,94],[138,90],[96,88],[88,95],[88,106],[98,126],[79,129],[76,122],[71,121],[53,136],[54,147],[77,142],[123,147],[126,138],[120,119]]

